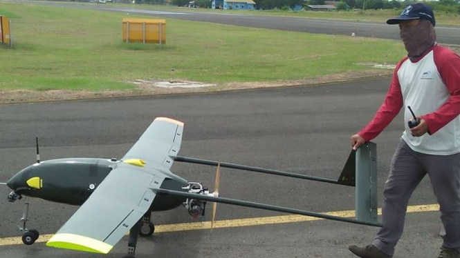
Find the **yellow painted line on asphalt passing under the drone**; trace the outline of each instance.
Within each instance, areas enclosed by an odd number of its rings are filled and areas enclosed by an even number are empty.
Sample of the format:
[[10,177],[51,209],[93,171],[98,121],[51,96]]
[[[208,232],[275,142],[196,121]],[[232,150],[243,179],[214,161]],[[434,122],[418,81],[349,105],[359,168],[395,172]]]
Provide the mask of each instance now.
[[[413,212],[429,212],[439,210],[438,204],[428,205],[416,205],[407,207],[407,213]],[[381,215],[382,210],[378,209],[378,215]],[[354,210],[342,210],[336,212],[324,212],[324,215],[332,215],[337,217],[355,217]],[[308,217],[302,215],[283,215],[273,217],[258,217],[249,219],[228,219],[214,222],[214,228],[235,228],[235,227],[246,227],[246,226],[259,226],[268,224],[284,224],[293,222],[306,222],[306,221],[318,221],[322,220],[317,217]],[[169,224],[169,225],[156,225],[155,234],[165,232],[176,232],[186,230],[204,230],[211,228],[211,221],[194,222],[194,223],[183,223],[183,224]],[[39,239],[35,243],[43,243],[48,241],[52,234],[40,235]],[[12,246],[22,244],[21,237],[4,237],[0,238],[0,246]]]

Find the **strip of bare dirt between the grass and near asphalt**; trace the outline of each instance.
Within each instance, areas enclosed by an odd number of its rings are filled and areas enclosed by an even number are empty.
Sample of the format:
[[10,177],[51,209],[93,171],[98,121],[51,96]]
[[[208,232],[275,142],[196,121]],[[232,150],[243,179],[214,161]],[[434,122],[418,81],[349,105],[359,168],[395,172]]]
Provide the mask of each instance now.
[[203,88],[160,88],[152,86],[152,83],[136,83],[135,90],[107,90],[102,92],[78,91],[78,90],[10,90],[0,92],[0,104],[26,103],[42,101],[63,101],[75,99],[101,99],[110,97],[133,97],[144,95],[169,95],[195,92],[219,92],[224,90],[244,90],[255,88],[274,88],[282,86],[317,85],[320,83],[331,83],[350,81],[355,79],[381,77],[391,75],[392,70],[369,70],[361,72],[347,72],[339,75],[326,75],[305,80],[293,81],[271,81],[251,83],[226,83],[220,86],[209,86]]

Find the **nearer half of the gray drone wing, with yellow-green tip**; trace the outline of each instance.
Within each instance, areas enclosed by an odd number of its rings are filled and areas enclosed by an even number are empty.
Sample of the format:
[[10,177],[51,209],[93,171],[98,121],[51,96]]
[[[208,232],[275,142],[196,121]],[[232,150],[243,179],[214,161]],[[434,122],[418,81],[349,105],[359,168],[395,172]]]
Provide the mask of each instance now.
[[147,212],[161,174],[120,163],[46,246],[107,254]]

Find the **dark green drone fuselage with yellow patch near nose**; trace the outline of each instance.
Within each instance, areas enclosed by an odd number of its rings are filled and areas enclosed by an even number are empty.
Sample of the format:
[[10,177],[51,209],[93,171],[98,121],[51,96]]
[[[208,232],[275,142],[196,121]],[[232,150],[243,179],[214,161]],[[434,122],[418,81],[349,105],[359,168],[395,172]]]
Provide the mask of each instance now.
[[[119,162],[116,159],[86,158],[42,161],[19,171],[7,184],[19,196],[81,206]],[[184,191],[182,187],[187,185],[185,179],[169,171],[155,172],[166,176],[160,188]],[[182,198],[160,195],[154,199],[149,210],[171,210],[184,201]]]

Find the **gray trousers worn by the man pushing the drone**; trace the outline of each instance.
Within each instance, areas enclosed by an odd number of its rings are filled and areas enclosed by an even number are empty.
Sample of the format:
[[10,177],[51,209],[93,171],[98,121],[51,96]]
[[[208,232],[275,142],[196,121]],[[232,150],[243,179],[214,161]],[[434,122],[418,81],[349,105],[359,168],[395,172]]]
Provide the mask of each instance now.
[[383,228],[372,243],[387,255],[393,255],[403,235],[407,203],[425,174],[440,206],[443,246],[460,249],[460,153],[427,155],[415,152],[401,139],[383,191]]

